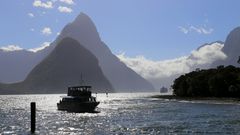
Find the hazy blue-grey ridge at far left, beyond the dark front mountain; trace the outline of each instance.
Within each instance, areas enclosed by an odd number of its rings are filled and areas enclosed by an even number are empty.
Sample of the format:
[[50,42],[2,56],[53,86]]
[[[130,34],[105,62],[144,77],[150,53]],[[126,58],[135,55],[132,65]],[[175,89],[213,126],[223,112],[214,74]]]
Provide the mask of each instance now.
[[37,54],[26,50],[0,50],[0,82],[21,81],[39,62],[36,57]]

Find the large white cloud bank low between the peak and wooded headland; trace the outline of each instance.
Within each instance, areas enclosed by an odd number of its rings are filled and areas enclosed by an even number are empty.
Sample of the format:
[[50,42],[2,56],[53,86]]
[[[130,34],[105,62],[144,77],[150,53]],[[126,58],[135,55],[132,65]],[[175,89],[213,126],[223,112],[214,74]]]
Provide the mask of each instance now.
[[156,88],[162,85],[169,87],[173,80],[181,74],[193,71],[196,68],[209,68],[212,62],[226,59],[221,51],[223,44],[206,44],[191,52],[189,56],[175,59],[154,61],[144,56],[127,57],[124,53],[117,57],[128,67],[154,84]]

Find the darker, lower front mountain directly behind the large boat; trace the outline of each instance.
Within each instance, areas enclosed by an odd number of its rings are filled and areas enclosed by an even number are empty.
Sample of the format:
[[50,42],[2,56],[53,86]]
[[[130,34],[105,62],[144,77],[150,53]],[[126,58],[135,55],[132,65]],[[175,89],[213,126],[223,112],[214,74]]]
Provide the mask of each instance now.
[[76,40],[64,38],[23,82],[1,84],[0,92],[64,93],[68,86],[80,84],[81,75],[86,85],[93,86],[94,92],[113,92],[97,58]]

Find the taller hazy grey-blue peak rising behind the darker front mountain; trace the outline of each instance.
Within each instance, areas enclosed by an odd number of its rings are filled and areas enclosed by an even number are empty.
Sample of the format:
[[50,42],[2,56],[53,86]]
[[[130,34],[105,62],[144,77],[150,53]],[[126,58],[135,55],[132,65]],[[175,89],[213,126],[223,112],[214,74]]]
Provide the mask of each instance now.
[[81,13],[72,23],[66,25],[57,40],[71,37],[81,42],[99,60],[99,65],[118,92],[154,90],[152,84],[122,63],[101,41],[92,20]]

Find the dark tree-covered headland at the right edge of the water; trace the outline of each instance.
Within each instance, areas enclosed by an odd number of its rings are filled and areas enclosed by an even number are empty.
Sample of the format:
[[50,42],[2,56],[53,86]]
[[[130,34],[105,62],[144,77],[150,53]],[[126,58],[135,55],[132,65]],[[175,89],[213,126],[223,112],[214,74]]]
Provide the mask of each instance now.
[[164,99],[208,100],[239,99],[240,68],[223,65],[211,69],[196,69],[175,79],[173,95],[154,96]]

